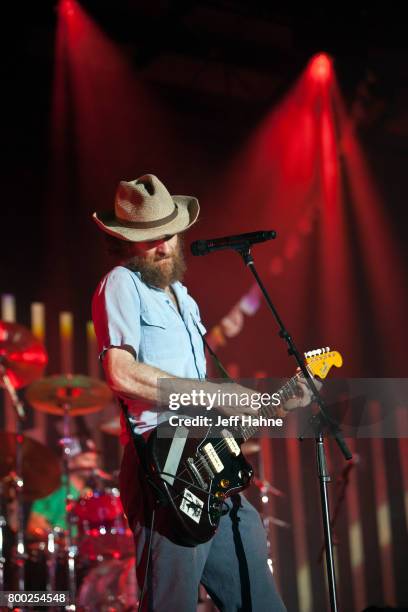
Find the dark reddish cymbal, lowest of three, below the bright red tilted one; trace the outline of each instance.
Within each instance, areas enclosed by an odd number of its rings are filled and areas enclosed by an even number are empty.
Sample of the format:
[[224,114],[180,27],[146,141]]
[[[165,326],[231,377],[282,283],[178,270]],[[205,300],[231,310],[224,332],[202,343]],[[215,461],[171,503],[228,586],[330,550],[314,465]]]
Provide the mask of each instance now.
[[[44,444],[23,437],[24,499],[32,501],[49,495],[60,485],[61,468],[57,455]],[[0,431],[0,479],[16,471],[17,434]]]

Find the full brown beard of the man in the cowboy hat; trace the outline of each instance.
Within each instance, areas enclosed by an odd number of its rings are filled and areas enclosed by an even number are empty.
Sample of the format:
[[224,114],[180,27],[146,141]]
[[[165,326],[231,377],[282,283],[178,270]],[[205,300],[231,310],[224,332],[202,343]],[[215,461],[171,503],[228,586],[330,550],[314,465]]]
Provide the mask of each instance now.
[[186,262],[180,238],[177,250],[172,255],[153,262],[135,255],[126,263],[126,267],[133,272],[139,272],[142,281],[153,287],[164,289],[176,281],[181,281],[186,271]]

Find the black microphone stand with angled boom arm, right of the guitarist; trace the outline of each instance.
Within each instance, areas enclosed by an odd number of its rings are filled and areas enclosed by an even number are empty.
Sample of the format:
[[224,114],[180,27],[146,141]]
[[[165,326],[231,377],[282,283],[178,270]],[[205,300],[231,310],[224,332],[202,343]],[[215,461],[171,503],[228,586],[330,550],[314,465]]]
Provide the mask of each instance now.
[[[324,540],[325,540],[325,548],[326,548],[326,566],[327,566],[327,580],[328,580],[328,585],[329,585],[330,609],[332,610],[332,612],[337,612],[338,607],[337,607],[337,593],[336,593],[336,575],[335,575],[334,558],[333,558],[333,543],[332,543],[332,533],[331,533],[331,524],[330,524],[329,497],[328,497],[328,492],[327,492],[327,483],[330,482],[331,479],[327,471],[327,462],[326,462],[326,453],[325,453],[325,448],[324,448],[323,432],[326,430],[334,437],[345,459],[347,460],[351,459],[352,454],[349,451],[344,441],[339,425],[336,423],[336,421],[334,421],[326,413],[325,403],[323,399],[321,398],[319,391],[316,388],[314,379],[309,373],[307,367],[305,366],[304,361],[295,346],[292,336],[289,334],[288,330],[285,328],[283,321],[278,314],[278,311],[273,305],[272,300],[269,297],[269,294],[259,277],[259,274],[255,268],[254,259],[251,255],[250,242],[243,242],[240,245],[234,246],[234,248],[241,255],[245,265],[249,267],[252,274],[254,275],[255,280],[258,283],[258,286],[261,289],[263,296],[269,306],[269,309],[271,310],[272,315],[278,325],[279,337],[282,338],[282,340],[284,340],[286,344],[288,345],[288,354],[290,356],[293,356],[298,367],[303,372],[306,383],[308,384],[313,394],[313,401],[315,401],[319,406],[319,412],[310,418],[309,423],[312,426],[313,431],[315,433],[316,463],[317,463],[317,471],[318,471],[318,478],[319,478],[319,484],[320,484],[320,501],[321,501]],[[302,440],[302,437],[300,438],[300,440]]]

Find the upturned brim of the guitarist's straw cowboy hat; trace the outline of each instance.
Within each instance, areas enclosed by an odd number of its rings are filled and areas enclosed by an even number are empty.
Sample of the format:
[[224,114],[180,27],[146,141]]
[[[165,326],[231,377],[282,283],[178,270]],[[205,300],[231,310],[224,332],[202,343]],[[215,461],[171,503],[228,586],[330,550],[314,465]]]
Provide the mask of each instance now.
[[93,220],[98,227],[116,238],[129,242],[144,242],[145,240],[159,240],[165,236],[179,234],[191,227],[198,219],[200,205],[197,198],[191,196],[171,196],[177,204],[177,216],[164,225],[146,229],[135,229],[119,223],[114,212],[94,212]]

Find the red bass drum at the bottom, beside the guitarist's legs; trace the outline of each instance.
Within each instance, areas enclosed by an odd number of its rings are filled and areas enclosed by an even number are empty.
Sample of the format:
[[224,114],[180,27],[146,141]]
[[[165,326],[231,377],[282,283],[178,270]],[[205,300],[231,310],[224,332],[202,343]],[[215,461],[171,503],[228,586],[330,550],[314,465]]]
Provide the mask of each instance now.
[[134,559],[111,559],[94,567],[77,598],[83,612],[136,612],[139,589]]

